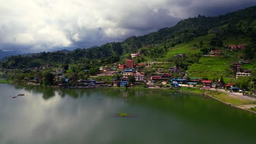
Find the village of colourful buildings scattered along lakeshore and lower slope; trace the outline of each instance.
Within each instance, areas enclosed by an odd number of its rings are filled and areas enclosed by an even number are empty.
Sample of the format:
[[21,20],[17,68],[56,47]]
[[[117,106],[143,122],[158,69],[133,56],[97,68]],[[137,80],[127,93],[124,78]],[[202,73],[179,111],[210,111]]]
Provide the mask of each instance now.
[[[237,49],[244,50],[246,45],[229,45],[230,51]],[[205,57],[222,56],[222,50],[212,50]],[[139,51],[131,53],[131,58],[126,59],[124,63],[114,63],[112,67],[106,65],[97,70],[96,76],[86,77],[86,79],[77,79],[75,75],[68,75],[68,68],[61,67],[53,69],[51,65],[46,64],[45,67],[36,67],[34,69],[26,69],[26,71],[43,71],[50,69],[54,75],[54,85],[59,88],[97,88],[97,87],[145,87],[145,88],[172,88],[178,89],[181,86],[200,87],[203,89],[218,88],[229,92],[241,92],[244,95],[249,95],[246,89],[234,87],[233,82],[224,82],[223,77],[219,79],[209,80],[205,77],[188,77],[186,71],[182,71],[176,65],[168,69],[157,68],[155,66],[165,64],[167,62],[152,62],[135,63],[133,58],[140,57]],[[175,57],[185,57],[184,53],[178,53]],[[244,62],[238,61],[232,63],[232,70],[236,71],[234,80],[240,76],[250,76],[251,70],[242,70],[241,66]],[[11,69],[0,69],[2,74],[11,73]],[[83,74],[89,73],[89,69],[84,69]],[[106,77],[108,77],[106,79]],[[22,83],[27,85],[42,84],[42,77],[24,77]],[[72,81],[72,82],[71,82]],[[18,80],[14,80],[18,82]],[[256,91],[250,95],[255,96]]]

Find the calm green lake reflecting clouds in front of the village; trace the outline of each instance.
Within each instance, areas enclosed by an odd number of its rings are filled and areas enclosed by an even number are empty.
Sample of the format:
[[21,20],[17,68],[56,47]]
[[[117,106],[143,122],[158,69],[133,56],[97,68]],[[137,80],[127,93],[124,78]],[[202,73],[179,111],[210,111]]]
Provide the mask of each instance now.
[[0,92],[1,144],[256,142],[256,115],[202,95],[9,83]]

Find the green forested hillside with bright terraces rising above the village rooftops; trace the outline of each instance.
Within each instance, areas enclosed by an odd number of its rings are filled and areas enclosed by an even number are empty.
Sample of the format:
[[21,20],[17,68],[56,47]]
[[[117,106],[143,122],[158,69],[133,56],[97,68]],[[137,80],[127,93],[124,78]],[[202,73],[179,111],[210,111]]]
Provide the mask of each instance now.
[[[198,15],[158,32],[89,49],[11,56],[1,65],[3,68],[33,68],[45,64],[79,64],[80,69],[90,69],[119,62],[120,58],[130,58],[131,53],[140,50],[141,58],[136,61],[168,61],[186,70],[189,65],[199,62],[203,54],[231,44],[246,44],[249,48],[245,58],[253,59],[255,41],[256,6],[216,17]],[[177,53],[185,53],[186,58],[177,61],[174,59]]]

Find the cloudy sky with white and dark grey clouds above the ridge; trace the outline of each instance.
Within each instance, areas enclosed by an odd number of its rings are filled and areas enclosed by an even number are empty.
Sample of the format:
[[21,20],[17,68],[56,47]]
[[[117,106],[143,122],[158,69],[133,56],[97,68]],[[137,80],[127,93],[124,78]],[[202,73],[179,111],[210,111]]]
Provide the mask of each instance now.
[[255,0],[0,0],[0,50],[89,48],[144,35],[199,14],[217,16]]

